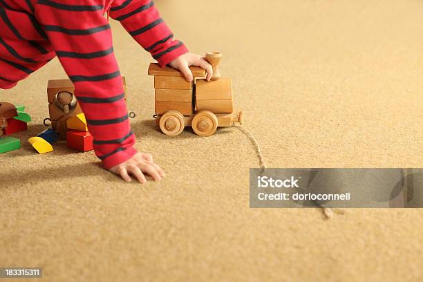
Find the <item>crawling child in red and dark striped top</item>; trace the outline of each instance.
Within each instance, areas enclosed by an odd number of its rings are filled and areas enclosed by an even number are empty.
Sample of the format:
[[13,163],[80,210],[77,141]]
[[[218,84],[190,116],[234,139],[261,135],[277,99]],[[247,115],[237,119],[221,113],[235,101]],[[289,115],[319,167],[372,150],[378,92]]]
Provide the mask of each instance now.
[[160,180],[164,171],[133,145],[123,85],[104,15],[116,19],[153,55],[192,81],[189,66],[212,77],[203,57],[188,53],[150,0],[0,0],[0,88],[12,88],[56,55],[75,84],[75,96],[104,169],[131,181]]

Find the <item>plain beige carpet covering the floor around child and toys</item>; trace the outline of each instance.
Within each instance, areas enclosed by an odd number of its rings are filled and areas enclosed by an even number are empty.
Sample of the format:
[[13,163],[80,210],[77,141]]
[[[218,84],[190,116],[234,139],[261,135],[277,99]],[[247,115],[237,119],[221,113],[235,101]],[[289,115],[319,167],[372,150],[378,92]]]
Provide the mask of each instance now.
[[[269,167],[423,167],[423,2],[157,1],[191,51],[220,50]],[[46,281],[422,281],[423,210],[250,209],[254,145],[155,128],[151,59],[113,22],[137,147],[167,171],[125,184],[66,144],[40,156],[57,60],[1,100],[25,104],[23,148],[0,156],[0,266]],[[21,280],[20,280],[21,281]]]

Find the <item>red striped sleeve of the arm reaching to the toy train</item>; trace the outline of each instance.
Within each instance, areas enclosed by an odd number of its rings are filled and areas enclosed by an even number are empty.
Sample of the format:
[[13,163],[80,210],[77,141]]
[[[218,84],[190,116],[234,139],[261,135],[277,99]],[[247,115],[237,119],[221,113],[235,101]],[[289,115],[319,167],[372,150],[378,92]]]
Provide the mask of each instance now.
[[152,0],[115,0],[109,15],[122,23],[129,34],[151,53],[160,66],[188,53],[185,45],[173,39]]

